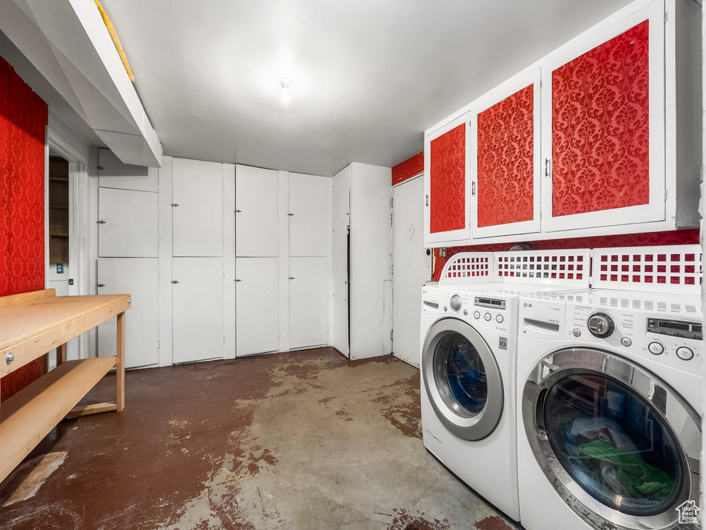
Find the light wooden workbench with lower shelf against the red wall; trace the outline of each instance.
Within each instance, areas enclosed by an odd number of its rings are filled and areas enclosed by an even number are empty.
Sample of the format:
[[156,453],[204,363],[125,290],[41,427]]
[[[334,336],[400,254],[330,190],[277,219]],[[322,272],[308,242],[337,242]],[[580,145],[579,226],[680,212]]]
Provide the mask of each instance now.
[[[0,481],[64,418],[125,406],[125,312],[130,295],[56,296],[54,289],[0,297],[0,377],[57,348],[56,368],[0,405]],[[66,343],[118,317],[115,357],[66,360]],[[77,406],[116,367],[116,402]]]

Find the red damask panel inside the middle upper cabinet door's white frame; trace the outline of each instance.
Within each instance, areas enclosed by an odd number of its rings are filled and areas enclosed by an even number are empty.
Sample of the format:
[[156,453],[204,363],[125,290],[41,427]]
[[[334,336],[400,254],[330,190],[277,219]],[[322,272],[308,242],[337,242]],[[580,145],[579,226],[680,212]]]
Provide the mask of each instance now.
[[534,85],[478,114],[478,226],[534,218]]

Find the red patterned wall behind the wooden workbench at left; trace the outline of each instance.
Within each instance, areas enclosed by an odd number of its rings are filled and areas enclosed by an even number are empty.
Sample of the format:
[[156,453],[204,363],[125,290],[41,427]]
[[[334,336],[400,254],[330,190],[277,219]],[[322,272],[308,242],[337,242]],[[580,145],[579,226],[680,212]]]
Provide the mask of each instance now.
[[[44,288],[47,104],[0,57],[0,296]],[[39,358],[0,379],[0,401],[44,375]]]

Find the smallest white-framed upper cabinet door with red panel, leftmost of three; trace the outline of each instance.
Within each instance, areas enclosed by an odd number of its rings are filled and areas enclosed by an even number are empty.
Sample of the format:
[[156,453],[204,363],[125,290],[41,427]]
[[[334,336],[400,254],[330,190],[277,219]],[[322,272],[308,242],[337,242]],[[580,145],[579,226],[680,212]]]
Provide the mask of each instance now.
[[424,245],[470,237],[468,169],[470,112],[424,139]]

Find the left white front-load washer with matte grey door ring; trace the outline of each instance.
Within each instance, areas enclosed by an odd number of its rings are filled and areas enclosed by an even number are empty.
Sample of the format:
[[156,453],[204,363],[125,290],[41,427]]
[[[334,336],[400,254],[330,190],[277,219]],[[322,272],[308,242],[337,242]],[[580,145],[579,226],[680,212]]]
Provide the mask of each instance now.
[[[540,252],[531,254],[533,263],[535,257],[543,256]],[[579,254],[582,259],[585,257],[583,263],[587,266],[587,253]],[[422,288],[420,365],[424,445],[481,497],[519,521],[515,413],[517,304],[522,294],[568,290],[571,284],[552,285],[551,278],[535,275],[534,265],[531,276],[513,273],[505,277],[528,283],[472,283],[474,279],[498,279],[496,274],[453,276],[457,274],[454,263],[463,264],[464,260],[471,263],[475,255],[457,254],[447,263],[438,285],[428,283]],[[529,258],[530,253],[523,257]],[[493,260],[493,254],[490,259]],[[521,267],[520,261],[517,265]],[[459,283],[462,281],[469,283]],[[578,282],[580,285],[581,281]]]

